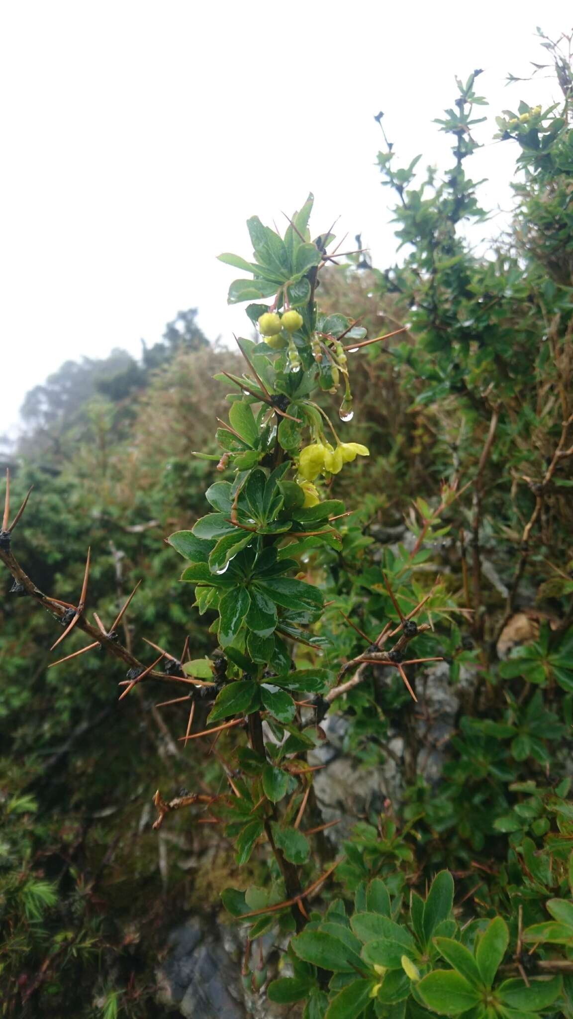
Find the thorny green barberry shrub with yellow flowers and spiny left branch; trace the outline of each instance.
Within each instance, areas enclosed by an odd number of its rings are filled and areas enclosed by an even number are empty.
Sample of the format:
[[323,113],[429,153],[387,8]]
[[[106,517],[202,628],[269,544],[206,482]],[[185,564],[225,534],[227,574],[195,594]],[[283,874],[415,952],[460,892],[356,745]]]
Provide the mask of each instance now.
[[[33,584],[11,550],[19,514],[10,523],[7,503],[0,557],[65,633],[77,626],[129,664],[121,698],[150,680],[184,684],[184,743],[225,741],[225,791],[158,791],[155,827],[174,810],[207,811],[200,819],[224,826],[246,873],[265,860],[263,883],[246,878],[222,899],[248,926],[248,986],[304,1003],[305,1019],[573,1016],[572,78],[570,60],[543,45],[563,101],[499,120],[522,176],[493,257],[475,256],[461,231],[483,218],[465,172],[477,71],[439,121],[455,140],[444,179],[431,170],[416,186],[415,162],[397,169],[390,147],[378,157],[411,246],[402,266],[373,273],[403,316],[385,348],[418,431],[433,435],[428,490],[401,542],[377,548],[359,508],[336,497],[351,472],[368,490],[375,451],[375,433],[357,441],[353,359],[377,363],[389,337],[368,336],[348,308],[320,312],[336,249],[330,231],[313,239],[312,196],[283,236],[249,220],[251,260],[221,256],[246,274],[228,300],[248,302],[256,338],[238,339],[244,373],[218,376],[229,389],[219,450],[198,453],[220,473],[205,493],[212,512],[168,539],[216,650],[188,661],[158,648],[143,666],[117,640],[119,618],[109,632],[86,620],[89,556],[76,606]],[[395,465],[407,471],[419,454],[405,445]],[[381,494],[366,499],[373,516]],[[533,639],[508,653],[518,609]],[[418,722],[431,728],[436,662],[460,708],[430,788]],[[340,705],[357,774],[361,760],[396,756],[390,732],[408,751],[402,810],[386,802],[342,845],[327,839],[307,757]],[[23,908],[43,913],[53,892],[27,895]],[[251,946],[271,931],[280,973],[267,985]]]

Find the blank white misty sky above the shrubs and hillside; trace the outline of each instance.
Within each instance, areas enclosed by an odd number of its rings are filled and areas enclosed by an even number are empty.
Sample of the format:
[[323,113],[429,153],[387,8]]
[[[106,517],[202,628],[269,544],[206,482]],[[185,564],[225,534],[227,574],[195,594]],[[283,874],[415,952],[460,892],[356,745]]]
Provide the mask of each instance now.
[[[361,231],[385,267],[373,115],[402,160],[444,165],[431,120],[454,74],[484,69],[488,142],[502,108],[557,98],[505,76],[542,62],[536,24],[555,37],[571,20],[569,0],[6,3],[0,432],[63,361],[138,355],[179,309],[198,307],[211,338],[244,330],[243,306],[226,306],[237,272],[216,256],[250,257],[250,215],[284,226],[313,191],[315,232],[341,215],[336,233]],[[514,155],[488,143],[473,160],[488,207],[509,206]]]

